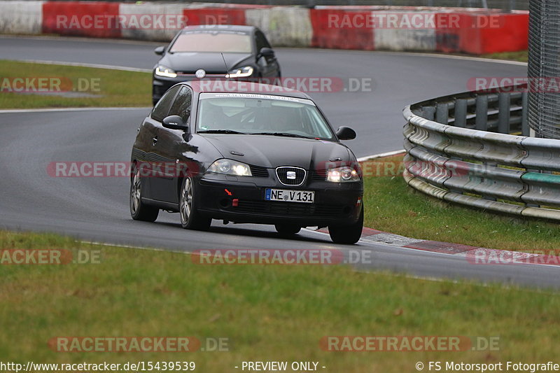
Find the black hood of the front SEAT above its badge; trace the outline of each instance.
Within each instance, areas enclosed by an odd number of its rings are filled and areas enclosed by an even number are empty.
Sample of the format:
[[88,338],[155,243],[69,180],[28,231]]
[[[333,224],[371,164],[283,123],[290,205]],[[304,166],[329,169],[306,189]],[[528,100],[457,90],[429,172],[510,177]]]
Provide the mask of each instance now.
[[204,134],[200,136],[214,145],[225,158],[267,168],[294,166],[304,169],[325,169],[325,162],[353,161],[350,159],[348,148],[333,141],[265,135]]

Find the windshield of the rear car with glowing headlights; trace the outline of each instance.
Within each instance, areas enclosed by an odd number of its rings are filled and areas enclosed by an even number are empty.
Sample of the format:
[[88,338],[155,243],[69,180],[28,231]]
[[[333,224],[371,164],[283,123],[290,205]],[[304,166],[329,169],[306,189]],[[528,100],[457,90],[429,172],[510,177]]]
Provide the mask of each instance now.
[[169,51],[251,53],[251,37],[244,32],[186,31],[176,38]]

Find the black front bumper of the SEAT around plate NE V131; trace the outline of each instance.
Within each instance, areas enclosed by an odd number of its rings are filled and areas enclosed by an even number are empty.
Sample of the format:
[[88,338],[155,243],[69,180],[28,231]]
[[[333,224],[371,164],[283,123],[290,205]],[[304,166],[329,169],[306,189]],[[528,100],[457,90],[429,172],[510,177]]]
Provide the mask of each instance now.
[[[296,224],[302,227],[350,225],[360,216],[362,183],[313,181],[290,187],[267,178],[240,182],[235,176],[219,180],[209,174],[197,180],[200,190],[199,212],[214,219],[235,223]],[[334,185],[333,185],[334,184]],[[266,188],[312,190],[314,203],[274,202],[265,200]],[[234,203],[234,200],[237,200]],[[359,202],[358,202],[359,201]]]

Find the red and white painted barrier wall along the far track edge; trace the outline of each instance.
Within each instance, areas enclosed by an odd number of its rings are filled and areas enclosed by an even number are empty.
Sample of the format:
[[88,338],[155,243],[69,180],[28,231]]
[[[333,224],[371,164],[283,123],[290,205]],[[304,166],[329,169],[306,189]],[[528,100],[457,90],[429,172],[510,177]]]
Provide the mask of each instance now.
[[[184,17],[186,24],[250,24],[265,31],[272,45],[288,47],[482,54],[524,50],[528,38],[528,12],[521,10],[32,0],[0,1],[0,33],[169,41],[182,25],[141,22],[160,15]],[[413,17],[428,21],[410,27]],[[372,22],[389,19],[388,26]]]

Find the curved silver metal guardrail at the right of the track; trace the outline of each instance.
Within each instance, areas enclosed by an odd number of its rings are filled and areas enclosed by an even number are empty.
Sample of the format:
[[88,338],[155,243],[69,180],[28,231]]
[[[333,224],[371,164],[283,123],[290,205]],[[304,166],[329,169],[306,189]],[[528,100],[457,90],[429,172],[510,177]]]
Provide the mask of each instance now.
[[560,220],[560,140],[528,137],[525,88],[407,106],[407,184],[477,209]]

